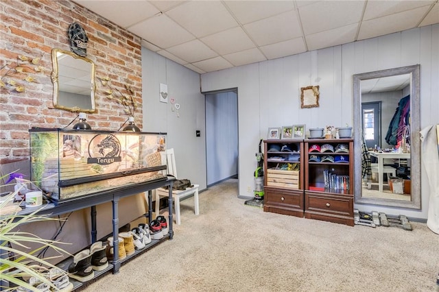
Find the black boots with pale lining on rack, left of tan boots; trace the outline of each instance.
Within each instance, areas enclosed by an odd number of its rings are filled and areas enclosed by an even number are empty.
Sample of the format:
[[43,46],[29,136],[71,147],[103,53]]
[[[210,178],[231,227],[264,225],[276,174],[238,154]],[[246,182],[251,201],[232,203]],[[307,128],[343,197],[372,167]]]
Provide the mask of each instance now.
[[86,282],[95,276],[94,271],[102,271],[108,267],[106,246],[102,241],[96,241],[90,249],[82,250],[73,256],[69,265],[69,277],[80,282]]

